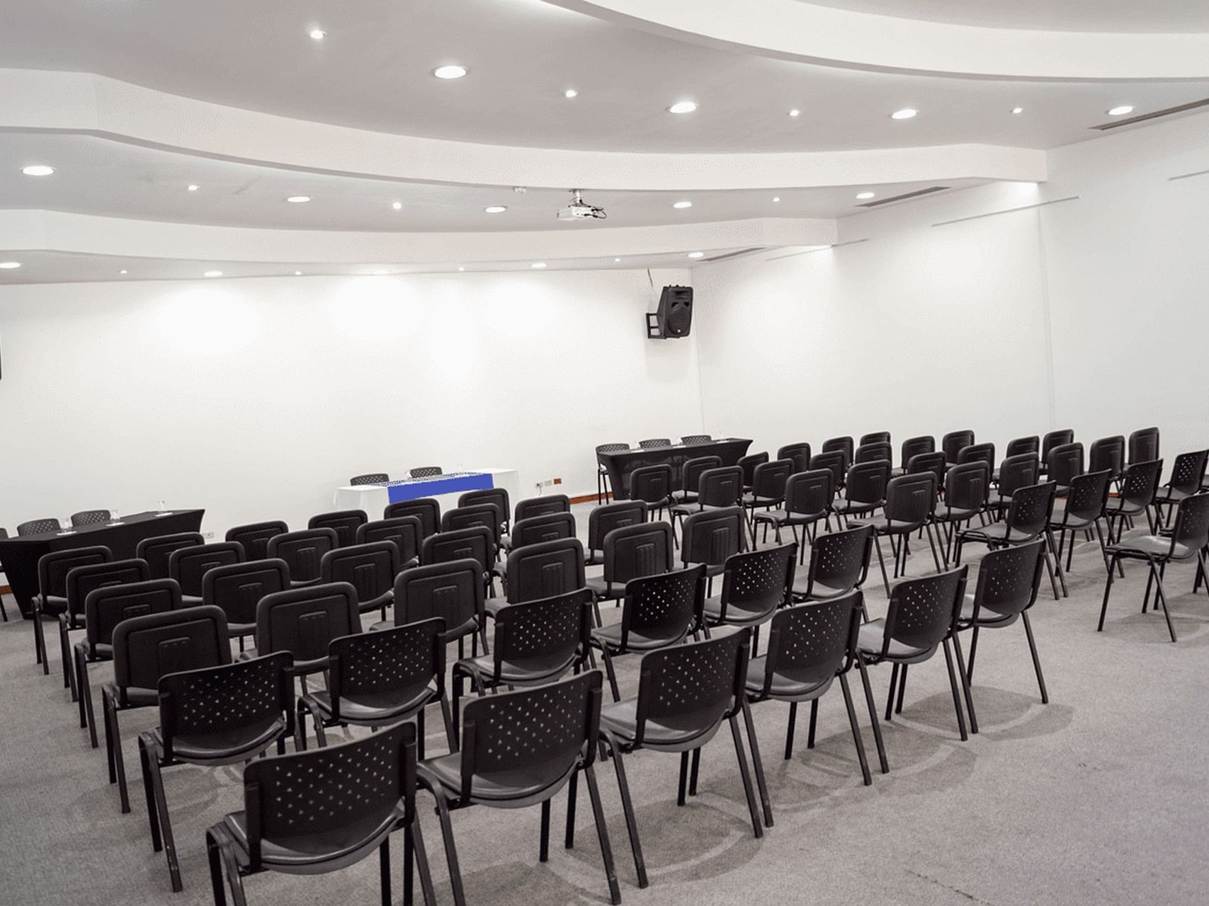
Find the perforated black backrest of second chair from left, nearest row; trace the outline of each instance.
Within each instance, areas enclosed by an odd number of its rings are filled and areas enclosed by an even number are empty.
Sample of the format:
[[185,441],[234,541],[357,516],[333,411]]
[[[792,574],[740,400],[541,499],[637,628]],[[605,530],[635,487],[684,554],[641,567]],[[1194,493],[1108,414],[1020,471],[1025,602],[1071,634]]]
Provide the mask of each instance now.
[[536,789],[556,786],[596,757],[601,719],[600,670],[533,689],[481,696],[462,714],[461,800],[476,777],[525,772]]

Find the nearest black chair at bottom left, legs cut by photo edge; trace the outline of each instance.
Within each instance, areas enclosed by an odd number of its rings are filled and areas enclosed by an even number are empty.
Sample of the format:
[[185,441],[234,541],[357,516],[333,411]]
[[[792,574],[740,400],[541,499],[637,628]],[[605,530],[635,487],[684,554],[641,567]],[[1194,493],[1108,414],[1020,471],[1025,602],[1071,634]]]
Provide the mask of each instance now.
[[[297,778],[305,777],[303,783]],[[378,852],[382,906],[391,906],[391,834],[404,829],[411,902],[411,858],[424,904],[435,902],[416,818],[416,728],[400,724],[353,742],[274,759],[243,772],[243,811],[206,831],[215,906],[226,906],[222,876],[236,904],[243,878],[261,871],[319,875]]]

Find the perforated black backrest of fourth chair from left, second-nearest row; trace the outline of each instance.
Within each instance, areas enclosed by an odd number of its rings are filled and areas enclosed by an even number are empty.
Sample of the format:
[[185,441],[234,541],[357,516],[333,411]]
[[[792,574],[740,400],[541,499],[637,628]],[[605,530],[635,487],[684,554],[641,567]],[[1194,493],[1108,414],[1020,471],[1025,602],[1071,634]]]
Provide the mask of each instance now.
[[621,649],[630,634],[647,649],[678,645],[701,622],[705,608],[705,565],[631,579],[621,604]]

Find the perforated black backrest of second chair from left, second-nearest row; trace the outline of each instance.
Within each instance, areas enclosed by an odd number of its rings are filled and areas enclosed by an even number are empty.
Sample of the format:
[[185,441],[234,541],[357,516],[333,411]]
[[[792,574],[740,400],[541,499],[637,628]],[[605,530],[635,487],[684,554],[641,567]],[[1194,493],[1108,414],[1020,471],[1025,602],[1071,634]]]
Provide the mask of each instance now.
[[413,702],[433,686],[445,687],[445,621],[440,617],[395,626],[381,632],[354,633],[328,646],[328,692],[331,716],[340,720],[342,698]]

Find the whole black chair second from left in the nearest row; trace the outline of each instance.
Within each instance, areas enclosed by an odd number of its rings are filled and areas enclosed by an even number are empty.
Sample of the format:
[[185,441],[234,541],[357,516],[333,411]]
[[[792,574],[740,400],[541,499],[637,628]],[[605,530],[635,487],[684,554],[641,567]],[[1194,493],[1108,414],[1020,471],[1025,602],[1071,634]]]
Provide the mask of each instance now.
[[[601,674],[589,670],[537,689],[486,696],[467,703],[462,715],[462,749],[426,759],[420,783],[436,800],[455,906],[465,906],[462,872],[450,812],[472,806],[522,808],[542,806],[539,858],[549,856],[550,800],[565,785],[574,801],[584,774],[596,815],[596,834],[608,877],[609,898],[621,902],[613,869],[604,811],[592,765],[596,761],[601,712]],[[574,812],[568,808],[566,846],[573,846]],[[420,826],[420,823],[416,823]]]

